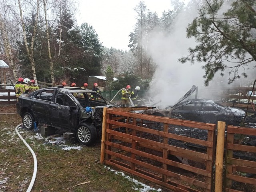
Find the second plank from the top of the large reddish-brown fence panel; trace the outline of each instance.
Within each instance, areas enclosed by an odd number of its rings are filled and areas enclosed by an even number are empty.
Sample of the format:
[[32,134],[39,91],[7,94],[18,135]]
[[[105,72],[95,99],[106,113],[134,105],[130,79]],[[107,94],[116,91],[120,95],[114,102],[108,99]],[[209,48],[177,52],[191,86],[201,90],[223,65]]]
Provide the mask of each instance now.
[[142,131],[142,132],[146,132],[146,133],[150,133],[150,134],[155,134],[157,136],[168,137],[168,138],[180,140],[183,142],[190,142],[190,143],[194,143],[194,144],[198,144],[198,145],[202,145],[202,146],[206,146],[206,147],[213,147],[212,142],[208,142],[208,141],[204,141],[204,140],[200,140],[200,139],[190,138],[190,137],[186,137],[186,136],[180,136],[177,134],[167,133],[167,132],[163,132],[160,130],[154,130],[154,129],[150,129],[150,128],[144,128],[144,127],[136,126],[133,124],[118,122],[118,121],[109,120],[109,119],[107,119],[106,122],[109,124],[112,124],[112,125],[120,126],[120,127],[126,127],[126,128],[130,128],[133,130],[138,130],[138,131]]

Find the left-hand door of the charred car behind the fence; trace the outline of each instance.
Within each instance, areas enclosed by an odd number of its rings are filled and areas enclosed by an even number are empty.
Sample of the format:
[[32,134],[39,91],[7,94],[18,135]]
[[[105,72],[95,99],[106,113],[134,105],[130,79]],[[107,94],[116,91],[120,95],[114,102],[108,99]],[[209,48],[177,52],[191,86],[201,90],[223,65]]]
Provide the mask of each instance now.
[[203,122],[202,103],[188,103],[175,108],[172,111],[172,118]]

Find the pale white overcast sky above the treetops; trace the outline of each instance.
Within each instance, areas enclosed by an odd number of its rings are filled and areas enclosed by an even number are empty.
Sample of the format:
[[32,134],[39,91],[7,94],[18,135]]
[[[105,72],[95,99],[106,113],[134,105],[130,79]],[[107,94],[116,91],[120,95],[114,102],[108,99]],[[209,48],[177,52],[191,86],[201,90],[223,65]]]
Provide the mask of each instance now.
[[[79,0],[79,13],[76,17],[78,25],[82,22],[92,25],[103,46],[128,50],[129,34],[136,24],[134,8],[139,2],[140,0]],[[172,10],[171,0],[144,2],[159,17],[164,10]]]

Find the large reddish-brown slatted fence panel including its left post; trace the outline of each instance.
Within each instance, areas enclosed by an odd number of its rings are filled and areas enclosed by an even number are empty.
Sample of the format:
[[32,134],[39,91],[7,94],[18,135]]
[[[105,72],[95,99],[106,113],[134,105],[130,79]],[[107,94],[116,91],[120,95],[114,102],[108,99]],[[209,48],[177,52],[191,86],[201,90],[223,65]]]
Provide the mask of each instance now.
[[[141,109],[104,108],[101,163],[174,191],[212,191],[216,125],[129,112]],[[172,133],[176,130],[203,131],[207,139]],[[205,150],[198,152],[186,144]]]

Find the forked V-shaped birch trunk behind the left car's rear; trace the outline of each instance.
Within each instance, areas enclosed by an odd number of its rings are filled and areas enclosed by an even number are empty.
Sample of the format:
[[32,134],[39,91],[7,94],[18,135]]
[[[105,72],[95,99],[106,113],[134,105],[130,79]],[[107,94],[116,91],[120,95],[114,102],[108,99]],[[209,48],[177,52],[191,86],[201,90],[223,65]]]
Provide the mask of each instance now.
[[22,30],[23,30],[24,44],[25,44],[26,52],[28,54],[28,59],[30,60],[30,63],[31,63],[32,75],[33,75],[33,78],[34,78],[34,80],[35,80],[35,82],[37,84],[36,68],[35,68],[35,62],[34,62],[34,39],[35,39],[35,35],[36,35],[36,26],[37,26],[37,22],[38,22],[39,0],[36,0],[36,2],[37,2],[36,20],[35,20],[35,25],[34,25],[34,31],[33,31],[33,34],[32,34],[31,47],[29,48],[28,47],[27,37],[26,37],[25,23],[24,23],[23,15],[22,15],[22,8],[21,8],[20,0],[18,0],[19,9],[20,9],[20,21],[21,21]]

